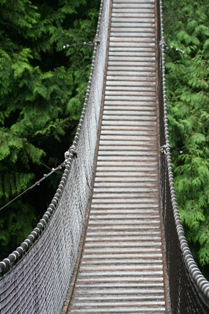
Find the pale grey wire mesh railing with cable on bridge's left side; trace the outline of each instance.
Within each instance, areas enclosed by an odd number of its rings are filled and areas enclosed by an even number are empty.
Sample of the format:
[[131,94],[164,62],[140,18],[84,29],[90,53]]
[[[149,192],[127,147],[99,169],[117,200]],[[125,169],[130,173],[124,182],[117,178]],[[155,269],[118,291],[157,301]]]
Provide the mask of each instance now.
[[58,314],[67,297],[90,196],[102,101],[110,1],[101,1],[91,73],[57,192],[29,237],[0,263],[1,314]]

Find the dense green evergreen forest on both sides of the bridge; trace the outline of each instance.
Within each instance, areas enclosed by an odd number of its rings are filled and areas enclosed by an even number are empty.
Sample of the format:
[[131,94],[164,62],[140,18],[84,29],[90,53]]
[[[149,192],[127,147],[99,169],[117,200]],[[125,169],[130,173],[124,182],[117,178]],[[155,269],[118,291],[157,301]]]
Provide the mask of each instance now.
[[[83,104],[100,0],[0,0],[0,207],[63,162]],[[175,187],[209,278],[209,3],[163,0]],[[66,48],[67,45],[70,45]],[[61,170],[0,211],[0,260],[27,237]]]

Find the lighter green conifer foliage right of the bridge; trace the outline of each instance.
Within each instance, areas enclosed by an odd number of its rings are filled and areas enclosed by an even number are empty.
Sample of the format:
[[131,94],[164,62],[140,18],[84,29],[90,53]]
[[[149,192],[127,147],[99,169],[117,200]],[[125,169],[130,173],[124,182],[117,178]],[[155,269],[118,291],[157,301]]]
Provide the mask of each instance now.
[[209,279],[209,2],[164,0],[175,188],[187,240]]

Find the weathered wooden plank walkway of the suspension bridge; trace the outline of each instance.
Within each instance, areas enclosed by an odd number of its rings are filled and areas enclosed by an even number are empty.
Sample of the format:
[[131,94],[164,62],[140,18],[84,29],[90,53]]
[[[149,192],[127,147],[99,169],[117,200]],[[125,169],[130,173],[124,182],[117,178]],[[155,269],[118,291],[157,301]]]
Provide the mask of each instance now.
[[95,184],[68,313],[165,313],[155,1],[113,0]]

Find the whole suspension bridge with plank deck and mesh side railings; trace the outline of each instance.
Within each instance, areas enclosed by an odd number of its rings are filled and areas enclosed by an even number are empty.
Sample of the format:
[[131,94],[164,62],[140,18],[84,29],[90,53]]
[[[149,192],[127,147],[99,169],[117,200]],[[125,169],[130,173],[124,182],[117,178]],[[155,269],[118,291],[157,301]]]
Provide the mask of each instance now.
[[161,1],[101,1],[73,146],[44,216],[0,262],[1,314],[209,313],[176,203],[164,45]]

